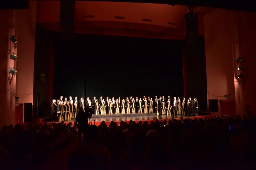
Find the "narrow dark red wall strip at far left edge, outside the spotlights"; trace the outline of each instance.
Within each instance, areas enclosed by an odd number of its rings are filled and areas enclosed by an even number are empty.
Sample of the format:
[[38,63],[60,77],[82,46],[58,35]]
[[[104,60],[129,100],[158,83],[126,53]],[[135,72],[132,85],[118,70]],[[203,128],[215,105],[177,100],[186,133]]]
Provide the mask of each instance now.
[[[13,14],[13,15],[12,15]],[[8,69],[14,66],[14,61],[9,59],[8,49],[11,52],[16,53],[16,45],[11,43],[9,37],[11,34],[15,34],[15,28],[10,28],[11,18],[13,23],[17,19],[16,11],[0,10],[0,96],[2,98],[0,102],[0,127],[7,124],[14,124],[15,116],[15,84],[16,76],[13,76],[13,93],[10,93],[10,81],[8,81]],[[13,17],[12,17],[13,16]],[[12,98],[12,102],[10,102]]]

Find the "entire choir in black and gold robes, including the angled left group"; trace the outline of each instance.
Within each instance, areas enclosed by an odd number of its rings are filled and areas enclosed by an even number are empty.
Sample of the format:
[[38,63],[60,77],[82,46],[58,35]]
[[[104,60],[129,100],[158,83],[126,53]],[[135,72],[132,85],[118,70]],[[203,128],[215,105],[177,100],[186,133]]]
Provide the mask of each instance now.
[[51,104],[51,113],[55,121],[69,121],[75,119],[78,113],[78,108],[82,108],[85,111],[85,108],[91,108],[95,115],[101,114],[135,114],[135,113],[156,113],[159,117],[162,115],[188,115],[198,116],[198,101],[196,98],[191,100],[189,98],[186,100],[183,98],[181,101],[180,98],[174,97],[173,99],[170,96],[165,98],[165,96],[154,99],[146,98],[145,96],[140,99],[136,97],[135,99],[131,96],[130,98],[121,98],[112,99],[106,98],[103,99],[100,96],[99,100],[96,97],[93,97],[91,101],[89,97],[85,100],[80,98],[80,100],[75,97],[72,99],[72,96],[69,96],[69,99],[60,96],[60,99],[53,100]]

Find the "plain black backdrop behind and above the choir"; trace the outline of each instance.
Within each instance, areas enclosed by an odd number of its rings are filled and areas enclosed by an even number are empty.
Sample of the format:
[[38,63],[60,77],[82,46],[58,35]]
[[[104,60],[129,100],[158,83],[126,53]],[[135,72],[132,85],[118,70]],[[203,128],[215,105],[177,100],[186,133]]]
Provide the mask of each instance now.
[[57,35],[54,98],[183,98],[182,44],[163,39],[86,34],[68,40]]

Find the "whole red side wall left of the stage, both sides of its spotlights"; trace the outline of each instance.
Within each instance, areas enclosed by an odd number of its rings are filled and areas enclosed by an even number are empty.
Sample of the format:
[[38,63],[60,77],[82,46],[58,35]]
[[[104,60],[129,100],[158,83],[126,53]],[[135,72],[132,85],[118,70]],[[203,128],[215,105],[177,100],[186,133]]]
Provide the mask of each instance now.
[[[15,96],[20,97],[17,103],[33,102],[33,95],[27,95],[27,93],[33,92],[35,37],[32,34],[35,32],[33,25],[35,25],[36,1],[30,2],[30,6],[28,10],[0,10],[0,95],[3,98],[0,102],[0,127],[15,124]],[[15,35],[18,39],[16,44],[10,42],[10,35]],[[16,62],[9,59],[8,49],[18,56]],[[8,74],[10,67],[18,71],[12,79],[12,93],[10,81],[7,81],[10,76]]]

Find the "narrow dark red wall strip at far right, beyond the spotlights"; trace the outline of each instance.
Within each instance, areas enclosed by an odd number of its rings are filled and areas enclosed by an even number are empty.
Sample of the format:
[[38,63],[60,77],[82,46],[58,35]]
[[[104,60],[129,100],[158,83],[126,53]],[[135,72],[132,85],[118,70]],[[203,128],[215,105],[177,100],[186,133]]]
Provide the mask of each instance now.
[[244,79],[241,82],[241,95],[243,98],[243,110],[246,105],[251,107],[253,114],[256,111],[254,98],[256,96],[256,13],[237,13],[238,41],[240,56],[244,59],[241,66],[245,69],[241,71]]

